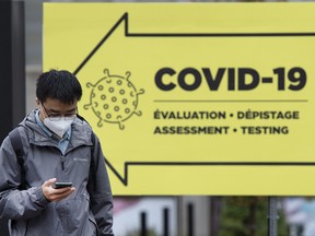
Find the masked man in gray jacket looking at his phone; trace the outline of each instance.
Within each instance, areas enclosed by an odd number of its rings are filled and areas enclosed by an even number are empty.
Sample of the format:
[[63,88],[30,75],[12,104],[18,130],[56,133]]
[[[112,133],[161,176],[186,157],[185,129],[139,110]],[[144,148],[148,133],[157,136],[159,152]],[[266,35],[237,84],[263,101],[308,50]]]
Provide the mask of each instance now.
[[[45,72],[36,96],[38,108],[16,128],[22,166],[12,139],[7,137],[1,145],[0,217],[10,219],[12,236],[114,235],[113,197],[100,141],[77,115],[79,81],[68,71]],[[56,181],[72,187],[56,188]]]

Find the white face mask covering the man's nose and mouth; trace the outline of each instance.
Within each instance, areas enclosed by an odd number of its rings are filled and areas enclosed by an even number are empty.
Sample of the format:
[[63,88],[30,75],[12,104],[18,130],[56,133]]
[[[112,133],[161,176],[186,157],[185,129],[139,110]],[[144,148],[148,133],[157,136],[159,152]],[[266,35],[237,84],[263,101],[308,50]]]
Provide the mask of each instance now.
[[51,120],[50,119],[51,118],[45,118],[44,125],[58,137],[62,138],[67,130],[69,130],[71,123],[74,120],[74,117],[73,119],[65,119],[65,117],[54,117]]

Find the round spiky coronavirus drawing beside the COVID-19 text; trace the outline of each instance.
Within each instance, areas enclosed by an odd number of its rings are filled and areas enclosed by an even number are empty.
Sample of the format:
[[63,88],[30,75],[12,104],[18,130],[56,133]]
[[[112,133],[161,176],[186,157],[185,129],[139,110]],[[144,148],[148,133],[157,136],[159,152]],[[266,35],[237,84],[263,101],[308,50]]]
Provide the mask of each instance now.
[[90,103],[84,105],[84,109],[91,109],[98,117],[98,127],[104,122],[118,123],[119,129],[125,129],[124,121],[132,115],[141,116],[138,110],[139,95],[144,90],[137,90],[129,81],[131,73],[126,72],[126,76],[112,75],[107,69],[104,70],[105,76],[95,84],[86,83],[91,88]]

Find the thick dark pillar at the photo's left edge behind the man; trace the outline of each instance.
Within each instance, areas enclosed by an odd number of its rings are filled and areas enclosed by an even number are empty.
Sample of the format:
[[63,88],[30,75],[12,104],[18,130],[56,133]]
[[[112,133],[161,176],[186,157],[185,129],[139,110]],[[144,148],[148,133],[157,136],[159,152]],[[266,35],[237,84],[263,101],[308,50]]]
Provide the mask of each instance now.
[[[24,1],[0,0],[0,143],[25,116]],[[8,220],[0,220],[8,236]]]

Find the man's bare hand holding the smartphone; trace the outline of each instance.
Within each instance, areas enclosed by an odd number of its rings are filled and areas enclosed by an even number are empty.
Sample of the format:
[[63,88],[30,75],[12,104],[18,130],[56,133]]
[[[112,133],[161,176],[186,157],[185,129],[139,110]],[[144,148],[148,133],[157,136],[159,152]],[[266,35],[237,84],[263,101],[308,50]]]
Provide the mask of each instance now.
[[75,191],[74,187],[66,187],[60,189],[52,188],[52,184],[56,182],[56,178],[52,178],[42,185],[43,193],[48,201],[61,201]]

